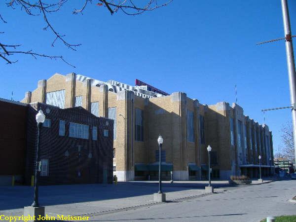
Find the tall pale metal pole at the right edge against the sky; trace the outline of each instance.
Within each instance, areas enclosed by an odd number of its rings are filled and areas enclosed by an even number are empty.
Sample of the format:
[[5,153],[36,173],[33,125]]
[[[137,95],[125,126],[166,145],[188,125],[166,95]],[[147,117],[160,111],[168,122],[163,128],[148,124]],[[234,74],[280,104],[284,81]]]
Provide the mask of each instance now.
[[[293,42],[292,42],[288,2],[287,0],[281,0],[281,3],[282,3],[285,37],[286,37],[286,54],[287,54],[288,74],[289,74],[291,105],[293,106],[292,121],[293,121],[294,152],[296,154],[296,71],[295,71],[295,61],[294,61],[294,53],[293,53]],[[296,160],[296,155],[295,155],[295,160]]]

